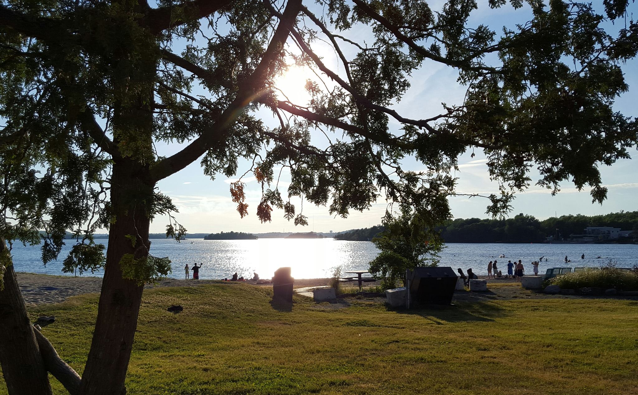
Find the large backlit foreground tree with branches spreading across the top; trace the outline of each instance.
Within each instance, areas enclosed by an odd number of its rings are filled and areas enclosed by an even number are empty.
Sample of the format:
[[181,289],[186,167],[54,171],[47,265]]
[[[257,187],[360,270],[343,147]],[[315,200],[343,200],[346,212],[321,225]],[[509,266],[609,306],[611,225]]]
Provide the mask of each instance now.
[[[240,159],[253,163],[248,171],[263,187],[256,207],[262,221],[276,208],[306,225],[293,197],[329,205],[331,214],[343,217],[386,198],[434,225],[450,216],[447,198],[457,194],[453,170],[468,150],[487,157],[489,174],[501,186],[500,195],[486,196],[487,212],[499,214],[529,186],[534,165],[538,184],[553,193],[573,179],[602,202],[607,191],[598,165],[628,158],[638,140],[635,121],[612,110],[628,89],[620,65],[635,57],[638,27],[630,21],[616,37],[602,28],[605,20],[625,15],[627,1],[605,1],[606,17],[589,4],[530,1],[531,20],[500,34],[468,22],[477,9],[471,0],[450,0],[436,13],[422,0],[313,4],[0,4],[3,239],[36,242],[34,230],[45,228],[46,262],[59,253],[61,230],[73,229],[78,246],[68,267],[104,267],[80,379],[56,368],[60,364],[51,361],[57,354],[47,354],[52,348],[20,315],[24,301],[15,281],[8,281],[13,271],[3,253],[0,307],[15,320],[1,320],[0,332],[4,339],[6,333],[24,335],[11,338],[13,348],[0,343],[12,394],[46,393],[45,370],[69,378],[64,385],[73,394],[125,391],[142,285],[169,268],[150,252],[151,220],[175,208],[156,184],[195,160],[201,158],[211,177],[236,174]],[[506,5],[494,0],[489,6]],[[371,28],[369,44],[352,33],[360,26]],[[313,50],[318,40],[332,46],[339,70]],[[308,103],[292,103],[276,89],[288,63],[329,78],[331,87],[309,80]],[[410,73],[433,63],[457,70],[466,87],[463,103],[422,119],[401,115],[398,102]],[[267,126],[260,109],[272,112],[279,126]],[[156,142],[184,147],[161,157]],[[406,156],[426,170],[401,167]],[[277,166],[290,171],[283,197]],[[239,215],[248,214],[244,184],[231,184],[230,193]],[[179,239],[185,229],[170,218],[167,235]],[[105,262],[92,242],[97,228],[109,232]],[[22,365],[14,355],[29,357],[40,373],[18,380]]]

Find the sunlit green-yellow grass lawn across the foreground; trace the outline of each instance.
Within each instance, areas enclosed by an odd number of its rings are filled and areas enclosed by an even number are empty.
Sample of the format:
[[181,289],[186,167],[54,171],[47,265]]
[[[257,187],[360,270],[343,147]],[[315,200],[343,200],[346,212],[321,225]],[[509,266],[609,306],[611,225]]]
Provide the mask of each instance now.
[[[286,311],[271,295],[244,283],[145,291],[128,393],[638,394],[637,301],[495,298],[406,313],[300,297]],[[97,301],[31,311],[57,317],[43,333],[78,371]]]

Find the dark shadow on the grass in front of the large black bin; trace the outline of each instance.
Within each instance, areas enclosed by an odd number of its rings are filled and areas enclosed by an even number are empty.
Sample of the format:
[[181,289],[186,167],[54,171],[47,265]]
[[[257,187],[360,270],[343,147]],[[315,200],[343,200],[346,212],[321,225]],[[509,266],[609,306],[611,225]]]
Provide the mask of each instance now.
[[397,313],[419,315],[436,325],[445,325],[445,322],[492,322],[494,318],[507,315],[505,309],[482,301],[472,303],[457,302],[448,306],[417,304],[409,310],[397,310]]

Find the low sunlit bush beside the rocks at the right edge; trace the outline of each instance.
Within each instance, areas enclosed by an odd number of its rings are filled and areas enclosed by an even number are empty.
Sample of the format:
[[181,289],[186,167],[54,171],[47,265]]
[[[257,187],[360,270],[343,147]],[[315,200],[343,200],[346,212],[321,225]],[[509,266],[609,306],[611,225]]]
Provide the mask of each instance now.
[[621,269],[600,269],[567,273],[551,280],[563,289],[616,288],[623,291],[638,290],[638,272]]

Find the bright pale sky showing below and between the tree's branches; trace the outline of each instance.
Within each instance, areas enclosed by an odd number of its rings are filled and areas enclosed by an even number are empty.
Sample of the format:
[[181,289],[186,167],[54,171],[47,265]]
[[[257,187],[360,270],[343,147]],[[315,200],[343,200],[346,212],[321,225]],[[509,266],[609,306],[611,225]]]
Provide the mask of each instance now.
[[[431,8],[437,9],[442,2],[431,2]],[[594,3],[597,10],[602,10],[600,3]],[[635,6],[632,6],[635,8]],[[528,19],[529,7],[514,10],[511,6],[504,6],[499,10],[490,10],[487,1],[479,1],[479,10],[475,11],[471,17],[471,24],[487,24],[492,29],[500,31],[501,26],[514,27],[514,22],[524,22]],[[606,28],[618,29],[624,24],[623,20],[617,21],[616,25],[607,24]],[[350,36],[357,38],[370,37],[367,41],[372,43],[370,32],[364,28],[357,27],[350,32]],[[348,54],[354,54],[351,46],[342,47]],[[327,65],[338,68],[338,63],[334,53],[330,52],[327,45],[318,45],[318,54],[324,58]],[[174,48],[174,52],[179,52]],[[339,71],[343,73],[343,70]],[[615,109],[625,116],[634,117],[636,114],[635,103],[638,101],[638,61],[630,61],[623,66],[625,78],[630,86],[627,93],[623,94],[616,101]],[[304,93],[300,90],[305,78],[313,78],[308,70],[295,69],[283,78],[278,80],[278,86],[288,96],[304,98]],[[465,87],[459,86],[456,81],[457,73],[451,68],[440,64],[424,63],[423,66],[413,73],[410,81],[412,86],[396,109],[404,116],[424,118],[429,115],[438,114],[441,109],[441,102],[447,104],[461,103],[465,93]],[[327,78],[324,78],[330,84]],[[202,91],[203,94],[203,91]],[[291,98],[292,98],[291,97]],[[278,120],[271,112],[260,112],[262,120],[270,125],[277,126]],[[399,124],[391,124],[391,127],[398,128]],[[178,144],[160,144],[158,153],[170,155],[179,150]],[[497,193],[496,183],[489,180],[487,165],[484,156],[480,151],[475,151],[476,156],[470,158],[466,153],[459,158],[459,178],[457,191],[459,193]],[[551,195],[551,191],[532,186],[524,193],[517,193],[517,198],[513,203],[513,210],[510,216],[519,212],[531,214],[542,220],[554,215],[564,214],[605,214],[621,210],[634,211],[638,209],[636,203],[638,197],[638,151],[632,149],[631,160],[619,160],[612,167],[601,167],[602,180],[609,188],[607,200],[601,204],[592,204],[588,189],[577,191],[573,184],[563,183],[561,191],[556,196]],[[248,161],[241,163],[238,174],[243,174],[250,167]],[[419,163],[410,158],[406,159],[404,168],[410,170],[422,170]],[[304,215],[308,217],[308,227],[295,227],[292,221],[283,218],[283,211],[274,209],[272,212],[272,222],[260,223],[256,216],[256,207],[261,197],[261,188],[256,183],[252,174],[247,174],[242,179],[246,183],[246,202],[248,203],[249,215],[240,218],[236,211],[236,205],[232,203],[229,193],[230,183],[239,178],[227,179],[224,175],[219,175],[212,180],[205,176],[200,167],[199,161],[192,163],[177,174],[171,175],[167,179],[159,182],[158,188],[173,199],[179,209],[175,215],[177,221],[184,225],[189,232],[339,232],[353,228],[363,228],[377,225],[387,208],[387,202],[380,200],[364,212],[351,212],[348,218],[335,218],[330,216],[327,207],[315,207],[306,204],[303,207]],[[535,179],[535,174],[531,174]],[[285,191],[286,174],[282,175],[279,183],[279,190]],[[294,201],[293,201],[294,202]],[[299,202],[297,202],[299,203]],[[454,218],[487,218],[486,206],[488,202],[480,197],[454,197],[450,198],[450,207]],[[297,205],[299,207],[299,205]],[[151,224],[151,232],[163,232],[168,219],[159,216]]]

